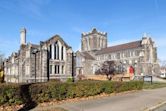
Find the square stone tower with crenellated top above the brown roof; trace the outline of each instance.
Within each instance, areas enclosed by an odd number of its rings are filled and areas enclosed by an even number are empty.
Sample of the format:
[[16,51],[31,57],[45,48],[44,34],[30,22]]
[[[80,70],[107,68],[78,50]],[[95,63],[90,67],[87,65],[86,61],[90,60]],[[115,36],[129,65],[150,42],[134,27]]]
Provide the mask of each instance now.
[[91,32],[82,33],[81,51],[95,51],[107,47],[107,33],[93,28]]

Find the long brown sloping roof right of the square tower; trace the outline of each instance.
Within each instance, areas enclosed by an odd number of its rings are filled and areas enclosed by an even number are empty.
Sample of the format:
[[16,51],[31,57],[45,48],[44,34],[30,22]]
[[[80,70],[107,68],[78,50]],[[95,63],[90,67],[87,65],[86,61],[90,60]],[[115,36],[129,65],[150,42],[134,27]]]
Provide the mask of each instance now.
[[116,46],[111,46],[107,48],[103,48],[99,51],[96,52],[96,55],[101,55],[101,54],[107,54],[107,53],[113,53],[121,50],[127,50],[127,49],[134,49],[141,47],[141,40],[135,41],[135,42],[130,42],[130,43],[125,43],[121,45],[116,45]]

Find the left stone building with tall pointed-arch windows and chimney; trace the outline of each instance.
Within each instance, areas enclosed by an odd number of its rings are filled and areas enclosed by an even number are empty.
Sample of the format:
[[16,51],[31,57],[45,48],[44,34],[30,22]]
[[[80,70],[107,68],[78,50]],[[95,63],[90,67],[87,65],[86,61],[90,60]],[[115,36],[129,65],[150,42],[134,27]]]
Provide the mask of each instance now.
[[20,39],[19,51],[4,62],[6,82],[45,82],[71,76],[72,48],[59,35],[32,44],[26,43],[26,29],[21,29]]

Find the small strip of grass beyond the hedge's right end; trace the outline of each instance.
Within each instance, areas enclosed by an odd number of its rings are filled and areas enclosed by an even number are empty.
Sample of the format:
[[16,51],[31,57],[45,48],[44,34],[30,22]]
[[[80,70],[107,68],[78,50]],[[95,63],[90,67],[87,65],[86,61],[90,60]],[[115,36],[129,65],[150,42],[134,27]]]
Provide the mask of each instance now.
[[156,89],[166,87],[166,83],[154,82],[154,83],[144,83],[143,89]]

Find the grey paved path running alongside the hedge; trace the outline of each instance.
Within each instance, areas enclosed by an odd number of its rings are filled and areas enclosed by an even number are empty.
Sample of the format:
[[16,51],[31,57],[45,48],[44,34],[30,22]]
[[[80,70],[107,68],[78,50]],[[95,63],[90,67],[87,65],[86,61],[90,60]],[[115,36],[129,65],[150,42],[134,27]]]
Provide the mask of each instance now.
[[[166,101],[166,88],[143,90],[133,93],[120,94],[93,100],[83,100],[77,103],[63,103],[58,106],[69,111],[143,111],[147,107]],[[47,107],[42,108],[42,110]],[[37,109],[36,109],[37,110]]]

